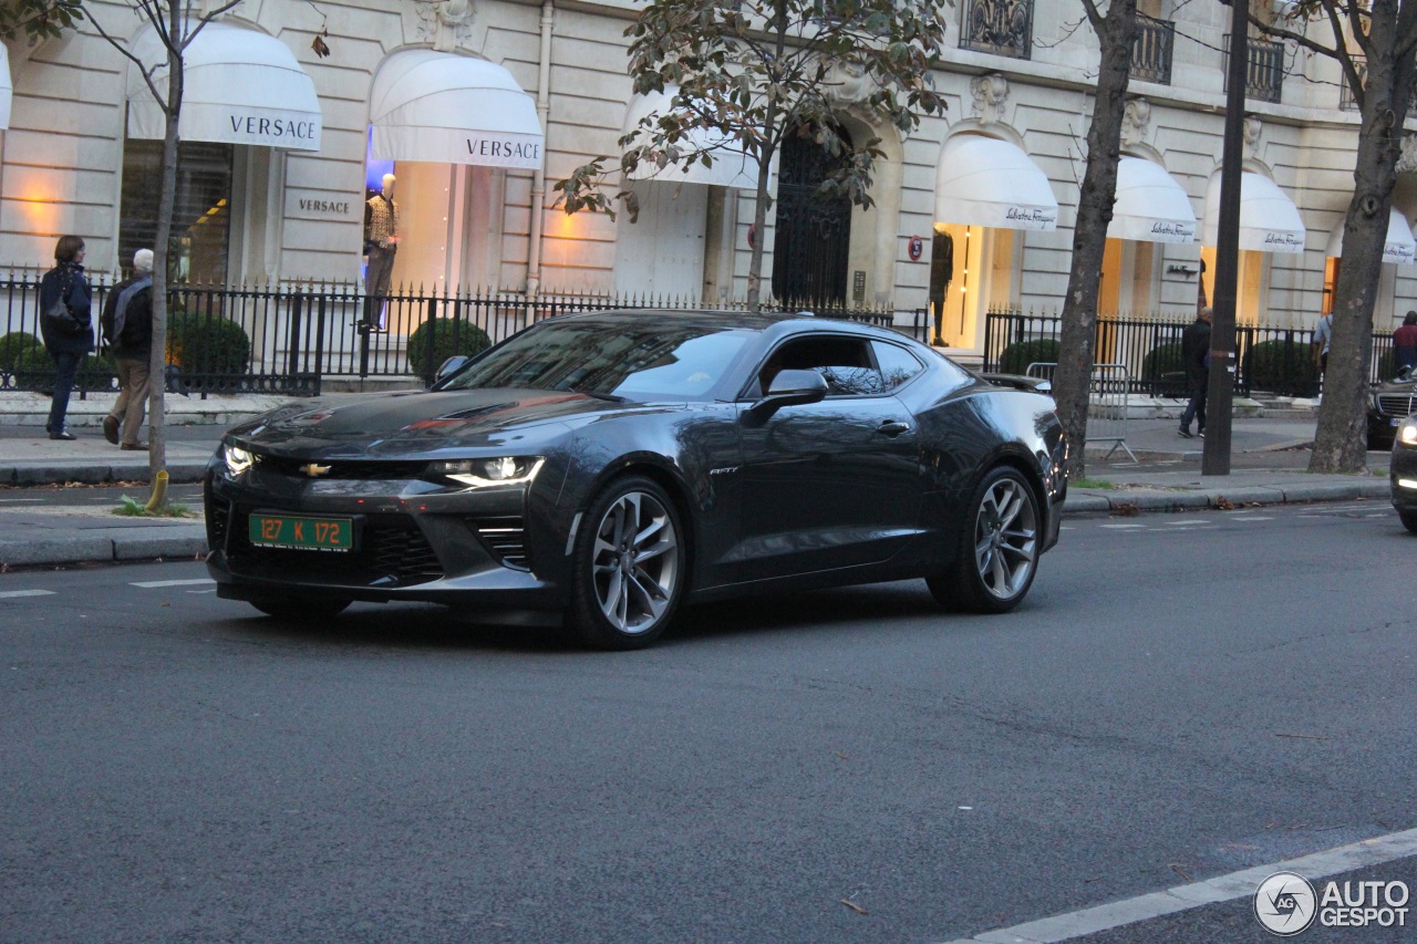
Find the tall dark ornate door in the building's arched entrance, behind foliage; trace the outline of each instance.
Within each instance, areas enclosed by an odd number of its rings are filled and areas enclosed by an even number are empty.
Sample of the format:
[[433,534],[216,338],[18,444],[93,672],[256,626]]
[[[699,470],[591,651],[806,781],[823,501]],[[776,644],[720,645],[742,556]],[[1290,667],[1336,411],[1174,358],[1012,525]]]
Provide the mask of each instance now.
[[[850,145],[846,132],[837,132]],[[772,242],[772,293],[791,306],[846,302],[852,201],[816,190],[839,166],[809,137],[782,145],[778,225]]]

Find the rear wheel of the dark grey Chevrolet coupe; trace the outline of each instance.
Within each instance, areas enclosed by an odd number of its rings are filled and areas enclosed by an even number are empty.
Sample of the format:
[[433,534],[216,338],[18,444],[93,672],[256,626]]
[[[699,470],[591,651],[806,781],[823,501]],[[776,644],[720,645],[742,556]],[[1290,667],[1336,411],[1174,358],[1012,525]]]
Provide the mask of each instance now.
[[1027,595],[1041,547],[1039,500],[1017,469],[1000,465],[975,488],[954,568],[925,583],[947,609],[1009,612]]

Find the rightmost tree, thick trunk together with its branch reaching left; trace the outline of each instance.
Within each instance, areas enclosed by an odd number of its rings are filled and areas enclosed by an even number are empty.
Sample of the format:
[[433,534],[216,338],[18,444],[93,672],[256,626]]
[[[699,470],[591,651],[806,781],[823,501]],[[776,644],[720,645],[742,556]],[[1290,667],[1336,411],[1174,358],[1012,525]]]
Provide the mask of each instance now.
[[1336,60],[1362,115],[1353,198],[1343,223],[1343,265],[1333,292],[1323,403],[1309,459],[1311,472],[1360,472],[1367,459],[1365,407],[1373,305],[1403,125],[1417,82],[1417,3],[1301,0],[1282,20],[1265,23],[1251,14],[1251,23],[1270,35]]

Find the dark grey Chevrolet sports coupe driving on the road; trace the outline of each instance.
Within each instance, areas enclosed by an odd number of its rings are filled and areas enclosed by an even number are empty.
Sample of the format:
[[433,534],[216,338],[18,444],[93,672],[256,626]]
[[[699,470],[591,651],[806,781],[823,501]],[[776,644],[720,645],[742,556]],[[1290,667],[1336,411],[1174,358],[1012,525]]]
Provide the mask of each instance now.
[[[1053,401],[891,330],[811,316],[543,322],[432,390],[305,401],[205,476],[221,597],[560,612],[636,648],[680,602],[924,577],[1012,609],[1067,492]],[[509,617],[510,618],[510,617]]]

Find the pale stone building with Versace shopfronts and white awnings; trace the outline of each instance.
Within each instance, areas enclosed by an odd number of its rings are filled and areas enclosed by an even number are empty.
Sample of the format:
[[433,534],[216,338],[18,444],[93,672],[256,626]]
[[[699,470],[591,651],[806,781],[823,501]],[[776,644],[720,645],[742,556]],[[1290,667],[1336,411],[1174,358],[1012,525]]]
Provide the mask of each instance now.
[[[1183,318],[1214,271],[1229,10],[1141,9],[1101,310]],[[89,10],[140,60],[159,54],[129,4]],[[245,0],[188,52],[173,274],[357,282],[367,206],[393,174],[395,286],[741,298],[743,169],[636,181],[635,224],[551,206],[555,180],[615,153],[656,105],[625,74],[633,16],[628,0]],[[968,352],[990,309],[1061,306],[1097,48],[1074,0],[956,0],[948,16],[934,75],[947,113],[910,136],[846,122],[883,140],[876,206],[811,201],[820,157],[789,149],[761,238],[774,293],[901,320],[934,308],[942,340]],[[150,89],[91,23],[7,52],[0,264],[47,265],[55,237],[77,232],[92,268],[119,268],[153,234]],[[1308,327],[1335,279],[1357,112],[1326,58],[1255,43],[1250,60],[1238,318]],[[1396,207],[1379,327],[1417,298],[1411,180]]]

